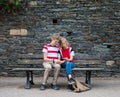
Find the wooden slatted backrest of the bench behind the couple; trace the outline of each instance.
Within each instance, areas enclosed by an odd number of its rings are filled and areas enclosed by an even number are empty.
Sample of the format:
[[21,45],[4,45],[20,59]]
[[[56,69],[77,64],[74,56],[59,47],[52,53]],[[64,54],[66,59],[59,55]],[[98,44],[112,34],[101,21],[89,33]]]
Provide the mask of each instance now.
[[[43,57],[40,54],[19,54],[18,64],[42,64]],[[88,67],[93,65],[101,64],[101,57],[98,55],[88,55],[88,54],[75,54],[74,62],[77,67]]]

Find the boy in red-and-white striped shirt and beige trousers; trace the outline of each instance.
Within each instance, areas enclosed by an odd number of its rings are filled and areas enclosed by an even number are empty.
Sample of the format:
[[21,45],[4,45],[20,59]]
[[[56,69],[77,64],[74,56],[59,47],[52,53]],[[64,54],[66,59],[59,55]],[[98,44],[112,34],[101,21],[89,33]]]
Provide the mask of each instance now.
[[53,77],[53,82],[51,84],[51,87],[54,90],[59,90],[59,87],[57,86],[57,79],[60,71],[60,64],[62,63],[62,61],[58,59],[59,46],[57,44],[59,42],[59,39],[60,39],[59,34],[54,34],[51,38],[51,42],[48,44],[45,44],[43,47],[43,50],[42,50],[43,60],[44,60],[43,66],[45,68],[45,71],[44,71],[43,83],[40,86],[40,90],[46,89],[49,72],[53,67],[54,67],[54,77]]

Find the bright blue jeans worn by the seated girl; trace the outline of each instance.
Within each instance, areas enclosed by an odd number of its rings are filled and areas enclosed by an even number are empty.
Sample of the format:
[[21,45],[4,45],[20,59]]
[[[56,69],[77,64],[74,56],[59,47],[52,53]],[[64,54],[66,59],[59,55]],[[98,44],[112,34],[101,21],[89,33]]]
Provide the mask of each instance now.
[[66,61],[64,64],[61,65],[62,68],[65,68],[66,74],[72,74],[72,68],[75,67],[73,62]]

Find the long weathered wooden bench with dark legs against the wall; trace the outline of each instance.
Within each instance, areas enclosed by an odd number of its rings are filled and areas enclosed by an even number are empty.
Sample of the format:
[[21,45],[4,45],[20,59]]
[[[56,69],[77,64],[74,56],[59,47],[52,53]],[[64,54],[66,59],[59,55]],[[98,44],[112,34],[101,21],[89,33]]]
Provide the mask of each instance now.
[[[30,89],[33,82],[33,71],[44,70],[42,66],[43,59],[38,54],[20,54],[18,56],[17,63],[19,67],[13,68],[13,71],[25,71],[26,72],[26,84],[25,88]],[[91,85],[91,72],[100,71],[104,68],[94,67],[93,65],[100,65],[101,58],[96,55],[80,54],[75,57],[76,67],[73,71],[85,71],[85,82]],[[65,70],[61,68],[61,70]]]

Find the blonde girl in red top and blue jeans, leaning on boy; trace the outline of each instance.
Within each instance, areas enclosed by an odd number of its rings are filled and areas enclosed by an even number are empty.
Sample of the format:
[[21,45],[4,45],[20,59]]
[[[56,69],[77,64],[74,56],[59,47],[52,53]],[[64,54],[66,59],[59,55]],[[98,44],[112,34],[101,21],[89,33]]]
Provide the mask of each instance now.
[[61,67],[65,68],[66,70],[69,84],[73,84],[75,83],[75,80],[72,77],[72,68],[75,67],[75,64],[73,62],[73,56],[75,55],[74,51],[72,47],[70,47],[70,44],[68,43],[66,38],[64,37],[61,37],[59,44],[60,44],[59,58],[61,60],[64,60],[64,63],[61,64]]

